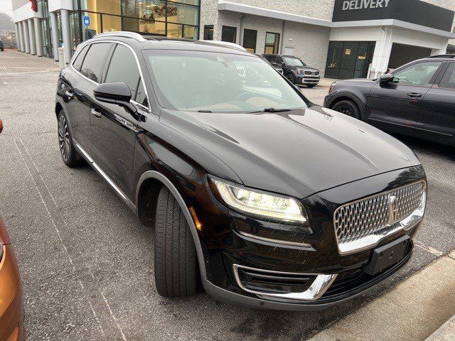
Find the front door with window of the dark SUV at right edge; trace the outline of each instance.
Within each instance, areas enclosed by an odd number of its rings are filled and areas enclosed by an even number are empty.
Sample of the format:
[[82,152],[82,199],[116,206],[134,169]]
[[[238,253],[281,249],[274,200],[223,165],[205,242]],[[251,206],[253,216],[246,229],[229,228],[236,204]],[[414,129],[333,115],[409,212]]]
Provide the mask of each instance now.
[[368,95],[367,119],[387,131],[414,135],[422,99],[443,62],[428,60],[394,72],[393,82],[377,82]]

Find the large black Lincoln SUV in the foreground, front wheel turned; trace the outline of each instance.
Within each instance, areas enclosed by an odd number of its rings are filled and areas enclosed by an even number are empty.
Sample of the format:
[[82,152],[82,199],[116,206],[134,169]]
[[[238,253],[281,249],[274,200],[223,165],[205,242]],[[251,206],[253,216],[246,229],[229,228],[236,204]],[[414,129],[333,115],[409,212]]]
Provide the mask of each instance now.
[[60,72],[63,162],[82,159],[154,227],[162,296],[311,310],[412,254],[427,183],[397,139],[316,106],[216,42],[102,33]]

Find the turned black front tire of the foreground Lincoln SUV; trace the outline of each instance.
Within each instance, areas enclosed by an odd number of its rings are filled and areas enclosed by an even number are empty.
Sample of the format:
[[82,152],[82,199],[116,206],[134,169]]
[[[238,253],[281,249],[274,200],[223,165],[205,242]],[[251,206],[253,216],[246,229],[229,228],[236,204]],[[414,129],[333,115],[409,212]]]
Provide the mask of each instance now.
[[198,291],[196,247],[180,205],[163,186],[156,203],[155,282],[164,297],[185,297]]

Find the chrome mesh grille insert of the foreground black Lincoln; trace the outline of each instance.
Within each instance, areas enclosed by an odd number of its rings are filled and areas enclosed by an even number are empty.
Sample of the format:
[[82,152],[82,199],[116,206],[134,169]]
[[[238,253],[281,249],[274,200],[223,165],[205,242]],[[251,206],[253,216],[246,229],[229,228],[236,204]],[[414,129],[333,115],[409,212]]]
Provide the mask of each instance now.
[[422,181],[338,207],[333,215],[338,244],[392,229],[389,223],[389,197],[396,197],[395,222],[400,222],[419,207],[424,190],[425,183]]

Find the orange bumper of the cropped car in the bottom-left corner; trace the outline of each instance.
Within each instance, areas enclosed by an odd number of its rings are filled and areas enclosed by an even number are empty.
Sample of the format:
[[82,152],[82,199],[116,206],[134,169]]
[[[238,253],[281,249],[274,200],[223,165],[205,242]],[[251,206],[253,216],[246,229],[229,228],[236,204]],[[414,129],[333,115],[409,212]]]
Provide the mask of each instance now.
[[4,245],[0,262],[0,340],[25,340],[21,283],[11,245]]

